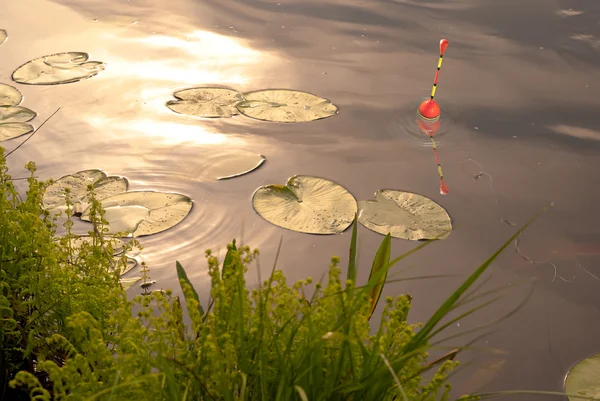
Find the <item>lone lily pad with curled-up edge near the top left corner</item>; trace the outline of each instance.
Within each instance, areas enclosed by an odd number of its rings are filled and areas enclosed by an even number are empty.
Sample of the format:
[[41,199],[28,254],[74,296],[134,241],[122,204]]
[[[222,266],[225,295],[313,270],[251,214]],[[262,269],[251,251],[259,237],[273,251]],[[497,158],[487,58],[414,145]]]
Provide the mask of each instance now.
[[12,79],[29,85],[68,84],[91,78],[104,70],[104,63],[88,60],[89,55],[82,52],[39,57],[17,68]]

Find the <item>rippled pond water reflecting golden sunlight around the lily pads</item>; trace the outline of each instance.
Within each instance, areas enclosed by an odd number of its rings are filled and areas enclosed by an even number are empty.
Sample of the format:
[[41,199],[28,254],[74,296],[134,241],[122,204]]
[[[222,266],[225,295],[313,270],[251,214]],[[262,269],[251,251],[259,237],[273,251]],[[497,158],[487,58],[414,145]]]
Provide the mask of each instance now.
[[[485,288],[513,290],[447,335],[505,315],[532,291],[516,314],[463,355],[473,364],[457,373],[456,393],[561,391],[569,367],[600,351],[599,16],[596,0],[4,2],[0,82],[22,91],[22,105],[38,113],[36,126],[61,108],[11,156],[11,173],[24,176],[29,160],[42,179],[99,168],[126,176],[133,190],[188,195],[191,214],[141,238],[139,257],[163,288],[178,288],[179,260],[201,294],[208,288],[204,250],[222,250],[242,235],[260,248],[263,277],[282,236],[279,266],[290,280],[321,277],[332,255],[345,263],[349,231],[311,236],[269,224],[250,202],[260,185],[305,174],[334,180],[359,200],[382,188],[422,194],[446,208],[454,231],[407,259],[411,269],[403,276],[456,276],[385,288],[384,295],[413,294],[414,321],[426,319],[514,233],[513,225],[552,201],[519,248],[553,264],[530,263],[509,247]],[[450,42],[436,94],[446,196],[429,139],[414,122],[441,38]],[[66,51],[87,52],[106,69],[67,85],[11,81],[23,63]],[[340,113],[277,124],[194,119],[165,107],[174,91],[205,85],[307,91],[331,99]],[[2,146],[10,150],[21,141]],[[189,174],[200,153],[229,148],[267,161],[226,181]],[[364,282],[382,236],[359,226],[359,238]],[[414,246],[394,240],[393,255]]]

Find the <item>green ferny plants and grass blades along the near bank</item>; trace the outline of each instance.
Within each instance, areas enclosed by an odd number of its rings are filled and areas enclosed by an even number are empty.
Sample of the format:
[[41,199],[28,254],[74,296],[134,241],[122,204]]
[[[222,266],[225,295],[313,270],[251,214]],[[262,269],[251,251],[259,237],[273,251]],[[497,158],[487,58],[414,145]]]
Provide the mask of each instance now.
[[[463,308],[479,296],[473,289],[478,278],[539,216],[423,323],[408,322],[408,294],[378,301],[388,270],[430,241],[392,259],[391,237],[385,236],[368,282],[359,285],[356,218],[348,266],[333,257],[323,282],[289,284],[276,262],[261,278],[253,268],[258,250],[234,240],[222,262],[206,251],[210,298],[199,296],[176,262],[183,299],[149,286],[128,299],[119,280],[127,250],[139,244],[131,240],[120,257],[113,256],[121,245],[105,233],[92,187],[88,239],[73,245],[68,193],[66,235],[57,238],[57,219],[42,207],[48,183],[34,178],[34,163],[27,169],[22,199],[0,147],[3,400],[450,400],[449,375],[470,344],[432,359],[434,343],[445,328],[487,304]],[[260,285],[249,289],[246,275],[257,270]],[[144,264],[142,272],[146,279]],[[375,323],[378,304],[383,313]],[[448,319],[458,308],[459,316]],[[501,393],[459,399],[494,395]]]

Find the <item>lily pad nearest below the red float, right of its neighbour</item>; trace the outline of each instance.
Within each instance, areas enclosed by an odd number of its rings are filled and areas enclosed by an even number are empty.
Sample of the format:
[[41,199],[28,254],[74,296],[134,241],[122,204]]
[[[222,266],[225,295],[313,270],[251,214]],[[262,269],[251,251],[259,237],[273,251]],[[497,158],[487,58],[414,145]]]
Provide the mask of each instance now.
[[369,230],[411,241],[444,239],[452,220],[444,208],[422,195],[382,189],[374,200],[358,202],[358,221]]

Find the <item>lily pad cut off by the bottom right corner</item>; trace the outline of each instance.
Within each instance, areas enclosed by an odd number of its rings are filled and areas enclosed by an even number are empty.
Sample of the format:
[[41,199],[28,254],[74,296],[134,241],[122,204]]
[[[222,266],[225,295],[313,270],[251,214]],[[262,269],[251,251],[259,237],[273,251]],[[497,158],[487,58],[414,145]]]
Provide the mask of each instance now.
[[[565,392],[600,400],[600,354],[579,361],[567,374]],[[581,398],[569,397],[569,401]]]

